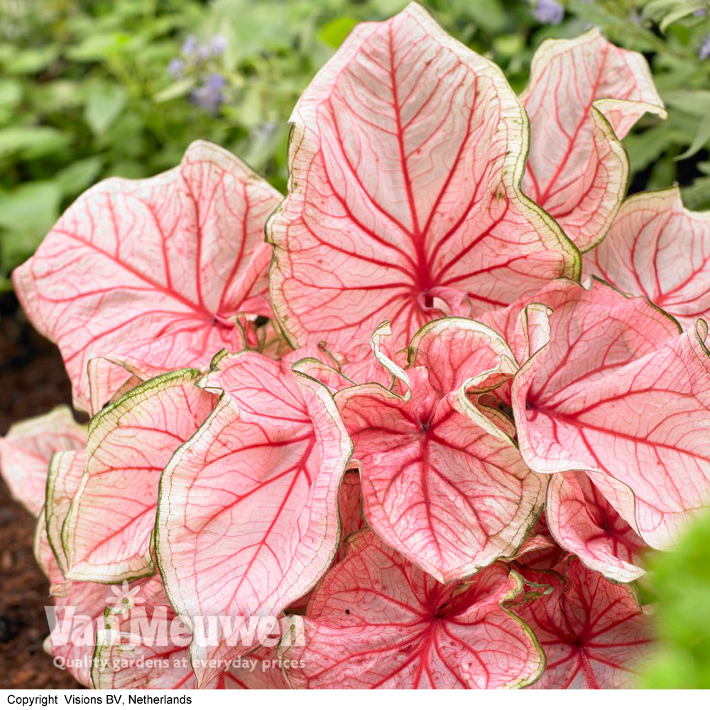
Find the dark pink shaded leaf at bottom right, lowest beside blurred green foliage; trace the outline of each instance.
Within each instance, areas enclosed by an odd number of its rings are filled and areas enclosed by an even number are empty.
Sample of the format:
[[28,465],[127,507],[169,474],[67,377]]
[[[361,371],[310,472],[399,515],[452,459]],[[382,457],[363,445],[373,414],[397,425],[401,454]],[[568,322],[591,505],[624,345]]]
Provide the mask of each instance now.
[[633,586],[613,584],[578,559],[525,577],[552,587],[515,611],[540,641],[547,667],[535,688],[629,688],[650,652],[650,620]]

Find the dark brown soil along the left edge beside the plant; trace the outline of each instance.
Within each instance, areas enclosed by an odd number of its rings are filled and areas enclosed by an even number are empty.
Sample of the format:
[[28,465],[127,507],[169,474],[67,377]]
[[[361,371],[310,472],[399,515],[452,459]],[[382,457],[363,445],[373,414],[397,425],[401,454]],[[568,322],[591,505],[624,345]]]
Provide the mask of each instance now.
[[[33,332],[13,297],[0,300],[0,435],[12,422],[70,403],[59,351]],[[35,563],[35,520],[0,482],[0,687],[77,689],[42,650],[48,582]]]

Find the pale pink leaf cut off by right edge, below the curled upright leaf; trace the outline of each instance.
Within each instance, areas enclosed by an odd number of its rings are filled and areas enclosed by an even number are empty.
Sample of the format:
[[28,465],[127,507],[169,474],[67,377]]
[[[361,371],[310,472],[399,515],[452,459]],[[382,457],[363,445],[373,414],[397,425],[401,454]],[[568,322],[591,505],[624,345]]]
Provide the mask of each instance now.
[[623,203],[586,273],[646,295],[684,326],[710,314],[710,214],[683,207],[677,187]]

